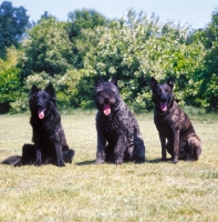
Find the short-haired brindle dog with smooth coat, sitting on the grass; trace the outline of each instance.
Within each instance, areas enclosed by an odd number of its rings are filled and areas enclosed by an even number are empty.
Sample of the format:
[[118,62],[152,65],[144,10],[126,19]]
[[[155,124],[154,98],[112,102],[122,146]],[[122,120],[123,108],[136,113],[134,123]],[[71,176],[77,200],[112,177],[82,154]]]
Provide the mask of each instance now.
[[178,159],[197,161],[201,153],[201,142],[190,120],[175,101],[173,79],[169,78],[166,84],[158,84],[155,78],[152,78],[150,87],[155,103],[154,121],[162,143],[162,159],[166,160],[167,150],[174,163],[177,163]]

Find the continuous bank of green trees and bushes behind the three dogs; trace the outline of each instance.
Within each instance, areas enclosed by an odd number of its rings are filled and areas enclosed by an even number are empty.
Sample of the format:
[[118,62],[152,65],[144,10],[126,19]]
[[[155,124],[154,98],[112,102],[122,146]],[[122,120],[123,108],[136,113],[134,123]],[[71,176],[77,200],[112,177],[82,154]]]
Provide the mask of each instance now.
[[193,32],[134,10],[111,21],[94,10],[75,10],[68,22],[44,12],[28,30],[19,53],[11,48],[8,59],[0,60],[1,78],[7,80],[2,90],[13,89],[1,95],[2,101],[23,110],[33,83],[44,88],[52,82],[60,108],[92,108],[96,78],[116,77],[122,98],[139,112],[154,105],[150,77],[164,82],[172,75],[180,105],[218,110],[217,27],[217,11],[206,29]]

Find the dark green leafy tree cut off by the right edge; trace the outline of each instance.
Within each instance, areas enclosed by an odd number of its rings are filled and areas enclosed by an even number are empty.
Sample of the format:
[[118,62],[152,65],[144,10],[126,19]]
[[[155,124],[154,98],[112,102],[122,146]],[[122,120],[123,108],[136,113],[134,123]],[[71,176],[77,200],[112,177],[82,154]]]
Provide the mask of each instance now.
[[211,14],[211,22],[205,30],[198,30],[195,39],[206,48],[204,69],[199,73],[201,81],[198,103],[210,110],[218,110],[218,9]]

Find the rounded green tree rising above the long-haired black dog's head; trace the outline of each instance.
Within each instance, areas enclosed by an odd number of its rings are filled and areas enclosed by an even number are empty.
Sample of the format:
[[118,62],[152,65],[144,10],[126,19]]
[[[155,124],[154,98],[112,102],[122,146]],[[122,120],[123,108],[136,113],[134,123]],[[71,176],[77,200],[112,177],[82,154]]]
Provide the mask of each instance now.
[[22,43],[23,75],[46,72],[63,74],[72,67],[72,43],[64,22],[48,16],[28,31],[29,38]]

